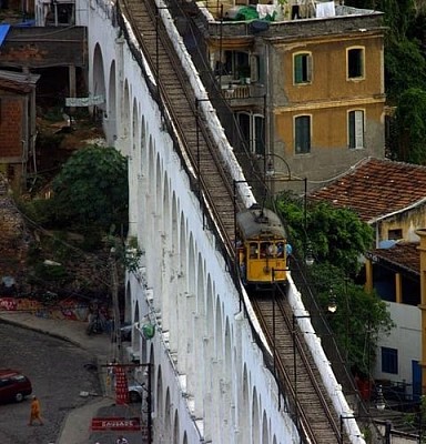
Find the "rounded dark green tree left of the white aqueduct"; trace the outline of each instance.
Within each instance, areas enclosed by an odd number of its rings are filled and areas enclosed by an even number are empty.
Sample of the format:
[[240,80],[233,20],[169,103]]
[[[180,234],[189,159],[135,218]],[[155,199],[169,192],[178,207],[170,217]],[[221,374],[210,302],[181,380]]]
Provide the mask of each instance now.
[[114,148],[89,145],[75,151],[52,183],[59,221],[110,232],[128,224],[128,164]]

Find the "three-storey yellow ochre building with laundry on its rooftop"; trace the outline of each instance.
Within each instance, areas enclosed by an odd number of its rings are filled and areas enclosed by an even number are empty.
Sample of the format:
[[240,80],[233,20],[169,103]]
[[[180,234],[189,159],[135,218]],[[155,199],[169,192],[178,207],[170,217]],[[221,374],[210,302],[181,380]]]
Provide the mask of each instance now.
[[[197,4],[206,6],[197,23],[206,31],[213,84],[232,108],[248,155],[261,160],[260,170],[266,158],[276,172],[307,178],[313,188],[366,157],[384,157],[381,12],[333,1],[286,1],[284,10]],[[205,83],[217,98],[212,82]],[[229,129],[229,119],[222,121]],[[243,150],[231,140],[236,152]]]

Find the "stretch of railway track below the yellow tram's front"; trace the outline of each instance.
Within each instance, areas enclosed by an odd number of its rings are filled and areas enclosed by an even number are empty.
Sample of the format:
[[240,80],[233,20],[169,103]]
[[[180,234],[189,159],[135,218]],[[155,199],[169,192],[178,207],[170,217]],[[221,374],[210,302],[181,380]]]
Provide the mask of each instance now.
[[296,319],[280,285],[250,294],[260,324],[274,354],[274,370],[282,391],[288,393],[293,414],[306,442],[348,443],[341,436],[339,418],[322,383],[321,375],[297,327]]

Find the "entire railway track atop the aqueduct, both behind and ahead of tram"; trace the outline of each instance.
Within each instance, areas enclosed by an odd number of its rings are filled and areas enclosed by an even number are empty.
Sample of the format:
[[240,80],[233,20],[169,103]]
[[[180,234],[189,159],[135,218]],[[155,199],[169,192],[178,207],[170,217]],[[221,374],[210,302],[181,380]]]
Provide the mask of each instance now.
[[[153,0],[119,0],[119,10],[130,22],[143,56],[155,75],[161,101],[173,121],[181,149],[195,171],[199,196],[204,201],[204,208],[209,208],[229,255],[233,258],[234,214],[235,210],[242,209],[241,203],[235,200],[233,181],[217,155],[217,147],[204,121],[199,118],[195,94],[159,19],[159,11]],[[277,352],[274,359],[276,375],[281,381],[280,386],[285,387],[286,397],[293,400],[290,411],[293,412],[301,431],[301,442],[341,443],[336,426],[338,421],[333,416],[331,401],[324,395],[325,390],[318,383],[320,374],[312,359],[305,353],[298,335],[294,336],[297,347],[296,353],[293,353],[293,330],[290,321],[292,314],[290,306],[285,304],[285,297],[278,297],[281,302],[276,307],[280,315],[275,316],[271,313],[271,295],[267,297],[263,292],[261,297],[252,295],[252,299],[271,345],[272,332],[277,332],[274,335]],[[297,369],[296,374],[294,367]]]

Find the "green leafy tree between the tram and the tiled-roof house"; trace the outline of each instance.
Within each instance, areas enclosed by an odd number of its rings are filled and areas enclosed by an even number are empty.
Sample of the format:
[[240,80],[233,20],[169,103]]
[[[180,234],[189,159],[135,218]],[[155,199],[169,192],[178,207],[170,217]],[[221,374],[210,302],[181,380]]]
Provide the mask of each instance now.
[[310,282],[314,283],[317,302],[327,313],[333,295],[337,311],[327,317],[337,344],[351,367],[367,375],[375,360],[378,333],[387,333],[394,325],[386,304],[376,293],[366,293],[356,283],[359,258],[373,245],[372,228],[352,210],[324,202],[311,202],[305,213],[305,202],[291,194],[278,196],[275,209],[285,221],[288,240],[298,258],[303,258],[303,249],[310,241],[315,256]]

